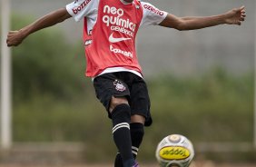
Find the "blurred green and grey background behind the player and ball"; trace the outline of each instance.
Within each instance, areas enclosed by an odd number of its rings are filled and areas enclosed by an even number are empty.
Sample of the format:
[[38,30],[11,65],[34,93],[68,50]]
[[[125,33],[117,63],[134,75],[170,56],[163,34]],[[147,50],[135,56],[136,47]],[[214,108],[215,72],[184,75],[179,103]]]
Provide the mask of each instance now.
[[[11,29],[71,2],[11,0]],[[151,26],[139,31],[137,51],[153,114],[139,162],[157,166],[157,143],[181,133],[194,144],[194,166],[256,166],[255,0],[148,2],[178,16],[218,15],[245,5],[247,18],[241,26],[187,32]],[[69,19],[12,48],[12,146],[0,148],[0,166],[113,162],[111,122],[91,79],[84,77],[82,32],[83,22]]]

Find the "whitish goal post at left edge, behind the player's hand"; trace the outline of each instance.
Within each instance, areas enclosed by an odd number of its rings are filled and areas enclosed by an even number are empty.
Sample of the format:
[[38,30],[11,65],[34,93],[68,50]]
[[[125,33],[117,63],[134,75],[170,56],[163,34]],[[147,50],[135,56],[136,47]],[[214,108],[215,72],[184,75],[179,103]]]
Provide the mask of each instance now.
[[11,54],[6,46],[10,27],[10,0],[1,0],[1,142],[0,147],[9,149],[12,145],[12,104],[11,104]]

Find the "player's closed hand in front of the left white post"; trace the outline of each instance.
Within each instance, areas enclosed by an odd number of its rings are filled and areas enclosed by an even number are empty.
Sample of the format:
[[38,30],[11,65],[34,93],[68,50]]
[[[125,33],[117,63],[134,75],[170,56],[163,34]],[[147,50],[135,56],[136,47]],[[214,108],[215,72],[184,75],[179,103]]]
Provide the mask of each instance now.
[[10,31],[7,35],[6,44],[7,46],[17,46],[23,42],[25,35],[22,30]]

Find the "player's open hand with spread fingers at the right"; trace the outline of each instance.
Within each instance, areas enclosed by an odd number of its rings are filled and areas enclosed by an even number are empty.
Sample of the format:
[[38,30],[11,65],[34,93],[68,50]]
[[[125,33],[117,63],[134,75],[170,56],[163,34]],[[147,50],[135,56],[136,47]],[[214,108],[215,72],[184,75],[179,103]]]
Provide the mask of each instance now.
[[245,20],[245,7],[234,8],[225,14],[225,23],[228,25],[241,25]]

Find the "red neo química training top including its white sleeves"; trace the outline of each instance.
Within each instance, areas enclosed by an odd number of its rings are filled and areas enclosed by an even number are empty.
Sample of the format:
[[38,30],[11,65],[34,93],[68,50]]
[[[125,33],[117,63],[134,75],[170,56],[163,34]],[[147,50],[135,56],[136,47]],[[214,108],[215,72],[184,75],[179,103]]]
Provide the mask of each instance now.
[[136,34],[143,25],[161,23],[166,12],[139,0],[75,0],[66,9],[76,21],[84,18],[86,76],[117,71],[142,76]]

